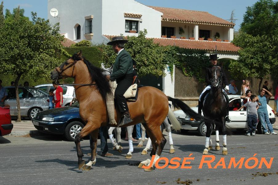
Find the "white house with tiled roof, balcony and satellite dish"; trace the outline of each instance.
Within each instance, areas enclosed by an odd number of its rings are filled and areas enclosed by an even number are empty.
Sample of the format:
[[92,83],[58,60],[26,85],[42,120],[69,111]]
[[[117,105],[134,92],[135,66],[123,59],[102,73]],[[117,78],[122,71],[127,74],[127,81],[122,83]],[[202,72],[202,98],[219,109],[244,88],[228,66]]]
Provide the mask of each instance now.
[[[50,15],[52,8],[58,10],[58,16]],[[48,19],[60,23],[61,33],[75,42],[107,43],[110,35],[138,35],[147,29],[147,37],[160,45],[205,50],[208,55],[217,46],[220,58],[239,56],[239,47],[230,43],[235,24],[203,11],[145,6],[134,0],[48,0]],[[216,41],[217,33],[221,41]],[[165,72],[163,92],[174,97],[175,81],[167,69]]]

